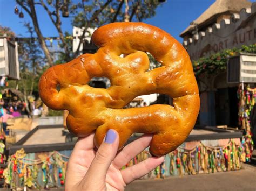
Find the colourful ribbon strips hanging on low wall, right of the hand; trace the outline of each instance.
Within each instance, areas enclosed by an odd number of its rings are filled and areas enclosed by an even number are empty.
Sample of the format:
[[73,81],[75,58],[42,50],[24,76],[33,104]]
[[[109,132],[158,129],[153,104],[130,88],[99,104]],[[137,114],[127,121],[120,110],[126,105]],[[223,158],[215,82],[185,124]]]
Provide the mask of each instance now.
[[[135,165],[149,156],[149,152],[143,151],[123,168]],[[198,145],[190,150],[180,146],[167,154],[165,162],[154,169],[154,173],[149,173],[144,178],[234,171],[240,169],[240,161],[244,159],[245,153],[242,146],[236,144],[233,139],[221,147],[210,147],[198,142]]]

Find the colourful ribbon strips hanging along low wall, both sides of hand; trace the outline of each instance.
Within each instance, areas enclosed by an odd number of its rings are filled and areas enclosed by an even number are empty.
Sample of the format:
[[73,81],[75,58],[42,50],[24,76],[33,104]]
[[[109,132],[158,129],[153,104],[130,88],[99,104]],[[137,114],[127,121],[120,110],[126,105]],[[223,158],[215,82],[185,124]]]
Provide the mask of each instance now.
[[[241,167],[240,162],[246,160],[246,149],[239,143],[239,140],[237,142],[235,139],[230,139],[226,145],[218,147],[206,146],[200,141],[190,149],[180,146],[165,156],[163,164],[143,178],[165,178],[166,176],[238,170]],[[136,165],[150,156],[150,153],[145,150],[122,169]],[[27,187],[39,189],[64,185],[68,156],[53,151],[49,155],[39,155],[37,160],[25,157],[26,153],[21,149],[8,159],[8,167],[3,175],[5,183],[10,185],[11,189],[26,189]]]

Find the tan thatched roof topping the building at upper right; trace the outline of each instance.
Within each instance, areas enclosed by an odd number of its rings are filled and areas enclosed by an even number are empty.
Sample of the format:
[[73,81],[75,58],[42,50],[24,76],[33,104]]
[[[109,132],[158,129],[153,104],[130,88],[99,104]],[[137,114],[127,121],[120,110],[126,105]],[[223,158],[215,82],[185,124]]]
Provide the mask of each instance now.
[[[243,8],[251,8],[251,5],[252,3],[247,0],[216,0],[205,12],[194,20],[194,23],[200,27],[206,22],[211,22],[211,20],[215,22],[214,16],[225,12],[229,12],[230,14],[238,13]],[[185,36],[185,34],[193,29],[193,27],[194,25],[188,26],[187,29],[180,33],[180,36]]]

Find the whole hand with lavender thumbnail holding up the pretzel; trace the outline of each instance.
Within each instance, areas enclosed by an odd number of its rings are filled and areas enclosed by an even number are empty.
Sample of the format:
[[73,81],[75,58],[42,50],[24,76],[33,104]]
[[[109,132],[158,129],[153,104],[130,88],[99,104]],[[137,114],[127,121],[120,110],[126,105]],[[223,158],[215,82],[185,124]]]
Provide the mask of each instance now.
[[94,134],[79,138],[70,156],[65,190],[124,190],[125,186],[152,171],[164,157],[150,157],[139,164],[121,168],[149,146],[152,135],[144,135],[117,153],[119,135],[107,131],[105,141],[95,151]]

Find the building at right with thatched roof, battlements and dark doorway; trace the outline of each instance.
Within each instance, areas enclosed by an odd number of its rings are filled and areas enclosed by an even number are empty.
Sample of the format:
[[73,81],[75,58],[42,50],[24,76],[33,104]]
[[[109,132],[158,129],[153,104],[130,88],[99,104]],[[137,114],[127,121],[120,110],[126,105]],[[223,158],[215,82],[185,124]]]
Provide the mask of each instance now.
[[[256,43],[256,3],[216,0],[180,37],[192,61]],[[256,67],[250,77],[256,77]],[[200,77],[200,125],[238,126],[239,83],[227,83],[227,71]],[[255,86],[255,83],[252,84]]]

